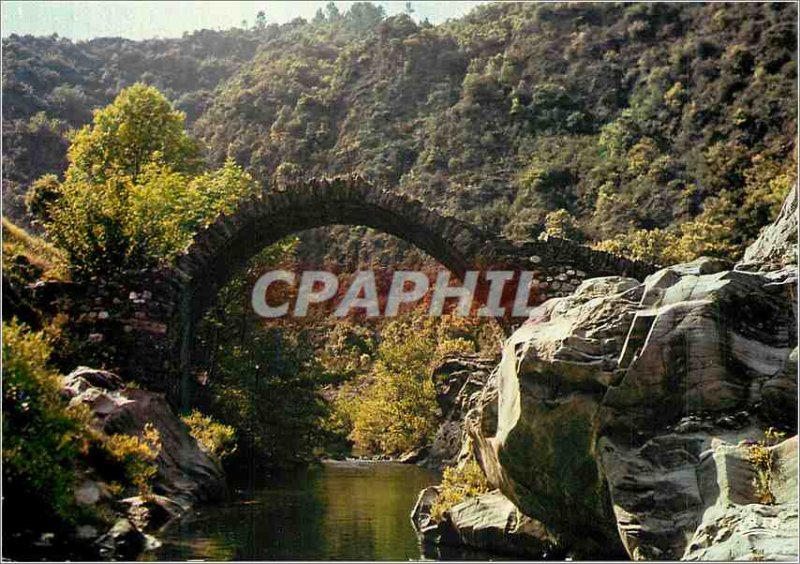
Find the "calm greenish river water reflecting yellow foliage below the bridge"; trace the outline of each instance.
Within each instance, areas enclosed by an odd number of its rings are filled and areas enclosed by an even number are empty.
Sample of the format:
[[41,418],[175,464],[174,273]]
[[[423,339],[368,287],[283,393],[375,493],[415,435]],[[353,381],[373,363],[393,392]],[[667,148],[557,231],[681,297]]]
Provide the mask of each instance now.
[[[416,560],[409,514],[438,477],[391,462],[326,462],[205,505],[162,531],[158,560]],[[426,549],[429,551],[430,549]],[[473,555],[453,554],[464,558]],[[478,556],[478,555],[475,555]],[[474,557],[474,556],[473,556]]]

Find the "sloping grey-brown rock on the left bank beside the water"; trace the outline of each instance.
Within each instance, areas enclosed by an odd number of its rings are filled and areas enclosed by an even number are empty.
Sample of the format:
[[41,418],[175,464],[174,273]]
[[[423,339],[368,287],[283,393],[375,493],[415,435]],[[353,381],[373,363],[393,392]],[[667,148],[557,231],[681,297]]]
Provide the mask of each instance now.
[[[155,541],[145,534],[158,529],[192,505],[220,498],[225,476],[219,464],[203,452],[186,425],[173,413],[164,394],[124,386],[116,374],[81,367],[63,378],[63,394],[82,403],[94,415],[94,425],[106,434],[141,435],[151,423],[159,432],[161,451],[153,480],[154,495],[114,500],[109,488],[90,477],[75,491],[78,503],[108,501],[118,514],[116,524],[100,531],[79,527],[82,540],[93,542],[104,559],[132,559]],[[79,531],[81,533],[81,531]],[[97,537],[97,538],[93,538]]]

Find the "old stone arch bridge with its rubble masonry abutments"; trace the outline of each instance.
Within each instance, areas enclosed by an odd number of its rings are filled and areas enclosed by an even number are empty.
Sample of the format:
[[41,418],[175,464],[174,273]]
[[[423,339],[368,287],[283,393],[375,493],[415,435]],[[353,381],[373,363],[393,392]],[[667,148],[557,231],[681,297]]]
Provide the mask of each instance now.
[[89,345],[111,351],[109,368],[165,388],[165,373],[189,371],[196,323],[240,267],[292,233],[335,224],[395,235],[459,277],[487,266],[533,271],[540,301],[569,294],[584,278],[642,279],[655,270],[564,239],[515,244],[350,176],[298,182],[244,201],[198,232],[174,265],[128,273],[121,282],[94,280],[73,289],[72,304]]

